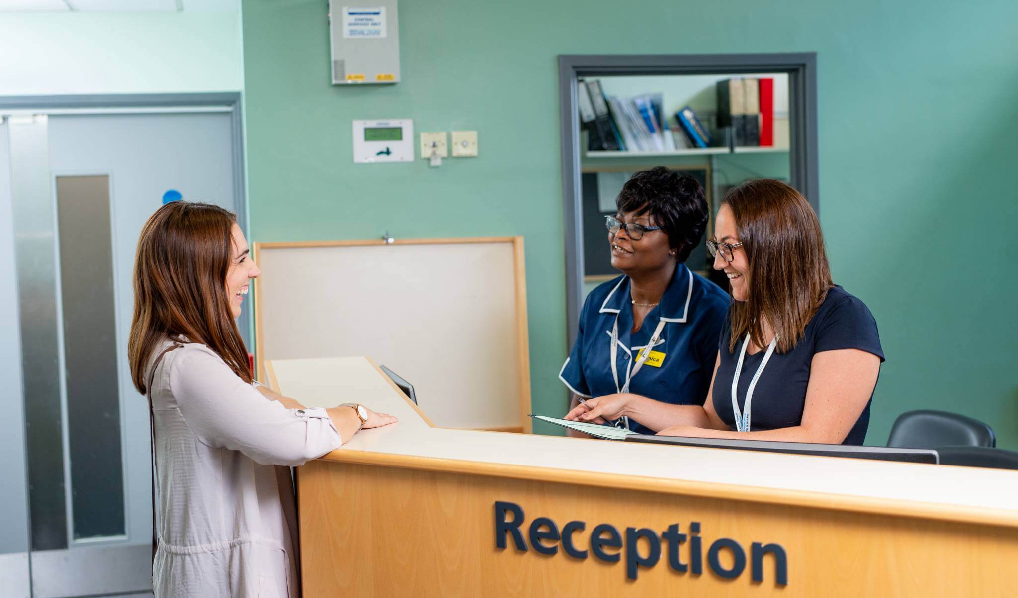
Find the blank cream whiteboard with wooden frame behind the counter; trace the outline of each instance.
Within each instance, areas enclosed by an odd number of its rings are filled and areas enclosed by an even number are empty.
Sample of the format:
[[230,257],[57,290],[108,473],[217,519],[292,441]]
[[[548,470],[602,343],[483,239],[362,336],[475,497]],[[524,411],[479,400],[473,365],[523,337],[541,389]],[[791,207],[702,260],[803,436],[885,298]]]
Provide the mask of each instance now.
[[[413,384],[437,426],[529,430],[522,237],[254,243],[252,253],[260,379],[265,360],[362,355]],[[336,404],[347,402],[358,398],[337,379]]]

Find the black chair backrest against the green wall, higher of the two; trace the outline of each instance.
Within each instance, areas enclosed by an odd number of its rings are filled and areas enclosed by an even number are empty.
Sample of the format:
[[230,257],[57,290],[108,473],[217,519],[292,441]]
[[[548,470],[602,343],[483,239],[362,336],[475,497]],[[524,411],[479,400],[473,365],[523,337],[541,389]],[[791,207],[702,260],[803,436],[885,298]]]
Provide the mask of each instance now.
[[946,411],[909,411],[898,416],[888,446],[937,448],[938,446],[996,446],[994,428],[977,419]]

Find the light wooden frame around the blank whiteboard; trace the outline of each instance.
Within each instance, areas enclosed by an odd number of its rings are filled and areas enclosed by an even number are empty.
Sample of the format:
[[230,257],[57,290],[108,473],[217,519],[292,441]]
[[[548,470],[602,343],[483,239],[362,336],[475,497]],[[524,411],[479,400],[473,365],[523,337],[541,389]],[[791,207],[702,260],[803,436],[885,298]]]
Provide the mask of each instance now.
[[[526,320],[526,268],[523,258],[523,237],[464,237],[444,239],[396,239],[386,243],[381,239],[352,241],[281,241],[256,242],[251,244],[251,256],[254,263],[260,263],[263,250],[295,249],[302,247],[362,247],[373,245],[451,245],[474,243],[511,243],[513,246],[513,278],[516,289],[516,346],[518,348],[517,366],[519,369],[520,424],[519,426],[502,426],[486,428],[506,432],[531,431],[530,418],[530,346]],[[262,315],[262,285],[254,284],[254,356],[258,379],[265,381],[265,351],[263,347],[263,315]]]

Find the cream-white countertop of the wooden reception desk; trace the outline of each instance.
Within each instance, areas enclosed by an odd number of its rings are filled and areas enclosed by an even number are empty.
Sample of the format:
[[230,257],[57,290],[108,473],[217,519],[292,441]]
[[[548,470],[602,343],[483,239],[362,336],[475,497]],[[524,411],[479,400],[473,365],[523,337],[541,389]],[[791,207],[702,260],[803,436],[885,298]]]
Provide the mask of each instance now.
[[[938,519],[1018,527],[1016,471],[435,428],[363,357],[277,360],[271,366],[280,392],[308,407],[359,402],[399,418],[394,425],[361,430],[325,459],[355,461],[337,454],[363,452],[550,468],[609,474],[620,487],[627,485],[626,476],[637,476],[686,482],[697,495],[710,494],[701,484],[734,485],[750,500],[754,491],[773,496],[769,490],[774,490],[810,493],[807,503],[852,511],[884,512],[893,501],[900,515],[921,514],[925,506]],[[427,414],[428,397],[417,400]]]

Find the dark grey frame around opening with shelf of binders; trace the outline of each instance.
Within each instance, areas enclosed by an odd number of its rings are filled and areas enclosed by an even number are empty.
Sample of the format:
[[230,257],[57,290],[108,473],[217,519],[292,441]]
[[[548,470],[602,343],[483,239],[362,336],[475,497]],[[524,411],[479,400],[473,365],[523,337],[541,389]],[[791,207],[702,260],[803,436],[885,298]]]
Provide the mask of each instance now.
[[560,54],[559,129],[562,215],[565,224],[566,333],[576,342],[583,306],[583,223],[580,186],[580,77],[619,75],[751,74],[787,72],[792,184],[819,214],[816,141],[816,53],[779,54]]

